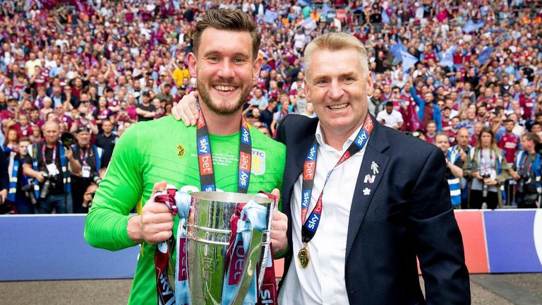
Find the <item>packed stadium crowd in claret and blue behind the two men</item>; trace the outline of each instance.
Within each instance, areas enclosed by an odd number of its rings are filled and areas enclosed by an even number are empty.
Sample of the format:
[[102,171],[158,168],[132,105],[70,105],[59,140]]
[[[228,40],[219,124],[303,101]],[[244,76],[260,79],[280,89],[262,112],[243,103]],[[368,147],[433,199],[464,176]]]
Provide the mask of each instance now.
[[[264,64],[245,116],[269,136],[284,116],[315,116],[303,92],[303,49],[317,35],[344,31],[366,44],[374,83],[369,109],[377,120],[435,145],[446,137],[439,147],[449,161],[452,202],[459,179],[458,208],[478,208],[481,201],[493,208],[517,205],[509,177],[522,181],[525,164],[531,172],[536,160],[540,166],[539,155],[523,163],[515,157],[526,131],[536,134],[526,141],[542,139],[537,1],[5,0],[0,144],[13,184],[3,190],[11,212],[85,213],[121,133],[170,114],[183,95],[197,90],[186,64],[191,34],[200,14],[218,7],[246,11],[260,25]],[[76,143],[70,145],[66,133]],[[489,146],[479,136],[485,133]],[[61,135],[64,145],[54,144]],[[56,160],[57,146],[73,151],[66,169]],[[36,162],[40,156],[43,162]],[[73,197],[64,210],[54,203],[39,207],[44,176],[55,172],[45,169],[51,162],[58,163],[52,193]],[[475,192],[469,200],[471,189],[483,193],[486,182],[490,196]],[[501,186],[508,196],[500,196]]]

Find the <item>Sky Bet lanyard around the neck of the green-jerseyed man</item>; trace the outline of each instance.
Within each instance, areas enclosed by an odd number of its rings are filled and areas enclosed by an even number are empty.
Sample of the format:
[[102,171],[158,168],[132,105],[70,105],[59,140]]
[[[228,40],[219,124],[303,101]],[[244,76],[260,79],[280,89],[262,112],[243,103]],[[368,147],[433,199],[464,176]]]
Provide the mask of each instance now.
[[[215,172],[213,170],[211,144],[209,141],[209,131],[207,124],[201,112],[200,104],[198,103],[200,112],[198,119],[198,129],[195,132],[198,145],[198,165],[200,167],[200,184],[201,191],[216,191]],[[237,193],[246,193],[248,191],[248,182],[251,179],[251,157],[252,157],[252,140],[251,133],[248,131],[248,124],[243,116],[241,116],[241,143],[239,144],[239,173],[237,184]]]

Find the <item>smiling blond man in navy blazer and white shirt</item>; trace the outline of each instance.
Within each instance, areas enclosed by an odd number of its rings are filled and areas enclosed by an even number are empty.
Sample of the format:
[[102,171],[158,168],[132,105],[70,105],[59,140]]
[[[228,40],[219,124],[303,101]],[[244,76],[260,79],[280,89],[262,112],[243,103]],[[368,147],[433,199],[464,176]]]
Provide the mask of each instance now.
[[[361,53],[361,67],[356,65],[359,55],[356,52]],[[326,279],[320,270],[316,277],[320,276],[322,296],[313,297],[311,294],[320,291],[318,285],[315,286],[317,289],[311,290],[312,278],[289,279],[291,276],[303,277],[307,272],[299,262],[298,249],[303,248],[300,232],[293,232],[294,223],[301,222],[299,216],[292,216],[295,214],[292,209],[299,211],[294,199],[301,196],[301,187],[298,186],[295,194],[294,189],[303,180],[303,168],[313,143],[319,145],[318,154],[322,152],[322,144],[342,153],[348,138],[359,128],[366,127],[363,124],[369,115],[366,95],[371,94],[373,84],[371,74],[363,64],[367,61],[364,52],[359,42],[344,33],[313,40],[305,52],[305,88],[308,101],[313,102],[320,120],[289,115],[279,124],[277,140],[287,145],[282,212],[289,218],[289,252],[285,256],[282,280],[284,286],[289,287],[282,287],[288,293],[282,291],[281,294],[290,295],[281,295],[282,304],[294,304],[296,299],[301,299],[302,303],[327,304],[325,289],[330,285],[327,282],[339,280],[336,277]],[[349,160],[339,165],[358,173],[354,190],[343,190],[354,193],[348,219],[335,224],[344,226],[347,223],[343,285],[349,304],[470,304],[469,273],[464,263],[461,233],[450,204],[442,151],[378,124],[373,116],[371,119],[374,124],[368,142],[361,150],[361,167],[352,167]],[[320,143],[321,139],[315,141],[318,133],[322,134],[320,138],[324,138],[325,143]],[[378,166],[376,172],[373,170],[375,165]],[[318,170],[316,172],[318,174]],[[339,181],[325,186],[325,192],[331,188],[340,189],[342,182],[347,182],[344,178]],[[325,200],[323,206],[325,210]],[[310,213],[311,209],[308,211]],[[327,214],[322,213],[320,217],[327,217]],[[336,242],[330,238],[327,245],[338,249]],[[315,256],[321,249],[322,244],[315,249],[316,253],[309,252]],[[418,281],[416,257],[425,280],[425,299]],[[323,261],[325,258],[319,263],[325,263]],[[298,292],[305,290],[307,283],[309,290]],[[339,290],[335,299],[340,297]]]

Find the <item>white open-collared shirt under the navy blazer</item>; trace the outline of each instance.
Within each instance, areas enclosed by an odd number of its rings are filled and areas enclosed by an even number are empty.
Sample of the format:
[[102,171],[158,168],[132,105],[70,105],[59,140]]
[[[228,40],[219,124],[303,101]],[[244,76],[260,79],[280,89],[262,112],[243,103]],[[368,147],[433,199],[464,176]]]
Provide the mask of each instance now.
[[[318,123],[316,128],[318,157],[307,217],[311,214],[318,196],[320,196],[327,172],[335,167],[337,161],[354,141],[360,129],[361,127],[352,133],[347,142],[344,143],[342,151],[338,151],[325,143],[320,123]],[[308,243],[311,261],[305,269],[300,267],[297,259],[297,253],[303,247],[301,242],[301,184],[303,184],[303,174],[299,175],[290,201],[294,258],[290,263],[288,276],[285,278],[286,282],[282,285],[279,294],[279,304],[349,304],[347,287],[344,282],[348,222],[352,198],[354,198],[354,189],[365,150],[366,146],[335,168],[330,175],[323,195],[323,211],[320,225],[315,236]]]

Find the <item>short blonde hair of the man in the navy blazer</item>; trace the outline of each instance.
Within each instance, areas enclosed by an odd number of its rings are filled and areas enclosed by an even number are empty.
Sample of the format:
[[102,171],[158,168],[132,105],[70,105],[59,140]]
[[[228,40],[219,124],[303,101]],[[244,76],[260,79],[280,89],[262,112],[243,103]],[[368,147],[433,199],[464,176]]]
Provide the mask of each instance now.
[[315,51],[329,50],[339,51],[342,49],[355,49],[359,53],[359,63],[361,64],[363,77],[367,77],[369,66],[367,61],[367,50],[365,46],[356,37],[344,32],[332,32],[321,35],[315,40],[309,42],[305,49],[305,78],[308,78],[308,73],[311,66],[311,57]]

